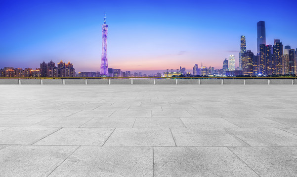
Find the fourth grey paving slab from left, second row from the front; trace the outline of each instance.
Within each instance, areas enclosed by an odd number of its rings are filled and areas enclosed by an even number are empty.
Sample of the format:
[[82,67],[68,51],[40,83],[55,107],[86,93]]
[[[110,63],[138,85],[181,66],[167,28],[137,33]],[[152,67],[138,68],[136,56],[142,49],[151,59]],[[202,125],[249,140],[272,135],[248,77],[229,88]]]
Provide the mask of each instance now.
[[176,146],[248,146],[222,128],[171,128]]

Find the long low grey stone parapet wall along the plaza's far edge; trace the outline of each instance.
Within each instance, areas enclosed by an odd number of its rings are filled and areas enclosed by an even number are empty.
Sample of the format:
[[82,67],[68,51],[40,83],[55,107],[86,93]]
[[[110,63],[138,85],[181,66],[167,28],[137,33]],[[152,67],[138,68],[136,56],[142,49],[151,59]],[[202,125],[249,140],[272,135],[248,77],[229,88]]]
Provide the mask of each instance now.
[[297,78],[0,78],[0,85],[297,85]]

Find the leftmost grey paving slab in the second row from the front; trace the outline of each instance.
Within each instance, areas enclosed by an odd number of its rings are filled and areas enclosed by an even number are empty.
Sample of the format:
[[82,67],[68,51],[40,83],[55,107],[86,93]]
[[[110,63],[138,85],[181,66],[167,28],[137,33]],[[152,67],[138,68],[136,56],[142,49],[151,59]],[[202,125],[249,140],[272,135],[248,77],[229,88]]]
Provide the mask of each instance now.
[[0,145],[31,145],[58,128],[11,127],[0,131]]

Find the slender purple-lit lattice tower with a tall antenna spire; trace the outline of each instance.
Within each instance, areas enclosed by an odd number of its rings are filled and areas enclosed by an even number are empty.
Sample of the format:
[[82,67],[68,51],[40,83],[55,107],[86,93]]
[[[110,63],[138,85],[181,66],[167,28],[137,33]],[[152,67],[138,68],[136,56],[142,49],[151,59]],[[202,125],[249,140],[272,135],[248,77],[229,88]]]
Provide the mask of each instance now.
[[104,24],[102,25],[102,55],[101,55],[101,68],[100,74],[101,76],[108,76],[108,64],[107,64],[107,30],[108,25],[106,25],[104,14]]

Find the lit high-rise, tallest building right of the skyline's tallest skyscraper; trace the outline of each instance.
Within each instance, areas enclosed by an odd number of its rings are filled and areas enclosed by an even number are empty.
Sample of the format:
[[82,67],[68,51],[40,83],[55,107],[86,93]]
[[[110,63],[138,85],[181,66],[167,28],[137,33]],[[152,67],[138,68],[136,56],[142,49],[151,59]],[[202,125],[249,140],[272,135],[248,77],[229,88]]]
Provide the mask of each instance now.
[[275,74],[283,74],[283,45],[279,39],[274,39],[273,60],[275,61]]

